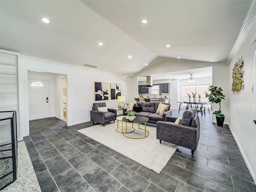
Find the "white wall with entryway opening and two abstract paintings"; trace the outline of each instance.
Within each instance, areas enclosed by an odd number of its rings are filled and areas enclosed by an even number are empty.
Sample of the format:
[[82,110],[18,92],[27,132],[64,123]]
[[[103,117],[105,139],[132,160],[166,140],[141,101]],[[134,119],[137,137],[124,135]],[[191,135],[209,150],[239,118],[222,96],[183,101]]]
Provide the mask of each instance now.
[[[74,67],[67,64],[58,64],[50,61],[29,58],[26,56],[22,56],[19,68],[22,68],[22,73],[19,75],[21,75],[24,79],[25,94],[28,93],[28,76],[31,78],[31,76],[28,75],[28,70],[39,70],[49,73],[67,75],[68,126],[90,121],[90,110],[92,109],[92,103],[95,102],[94,82],[121,84],[121,94],[126,96],[126,100],[130,100],[132,98],[132,94],[129,91],[131,89],[131,78],[127,76],[91,70],[88,68]],[[43,76],[44,75],[42,75],[40,78],[43,78]],[[39,78],[39,76],[36,76],[36,78]],[[49,82],[49,86],[51,87],[50,92],[52,95],[49,96],[49,98],[59,98],[59,87],[61,86],[59,78],[60,76],[56,76],[54,81],[54,77],[52,75],[52,80]],[[54,86],[56,91],[53,90]],[[23,110],[26,112],[26,127],[28,128],[28,97],[25,98],[26,99],[22,101],[22,104],[25,106]],[[109,108],[117,109],[117,100],[109,99],[102,102],[106,102]],[[57,103],[60,103],[60,101],[57,101]],[[54,105],[56,105],[56,101]],[[56,108],[59,108],[59,106]],[[53,109],[51,106],[50,116],[59,115],[59,112],[56,112],[54,106]],[[23,134],[24,136],[27,136],[28,132],[24,132]]]

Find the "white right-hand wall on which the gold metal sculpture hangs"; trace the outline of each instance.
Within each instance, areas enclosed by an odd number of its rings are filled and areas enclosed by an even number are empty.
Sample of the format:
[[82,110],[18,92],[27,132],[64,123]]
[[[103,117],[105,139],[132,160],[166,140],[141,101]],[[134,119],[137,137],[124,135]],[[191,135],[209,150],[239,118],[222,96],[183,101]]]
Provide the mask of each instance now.
[[[256,44],[250,45],[252,37],[256,34],[256,20],[252,24],[246,38],[242,42],[238,52],[234,56],[232,62],[228,66],[228,94],[230,97],[230,129],[244,160],[254,178],[256,174],[256,125],[252,120],[256,120],[256,66],[254,66],[252,85],[254,92],[251,92],[250,77],[252,72],[252,64],[254,60],[254,51]],[[231,91],[232,69],[234,64],[238,62],[238,58],[244,60],[244,89],[239,95],[233,94]]]

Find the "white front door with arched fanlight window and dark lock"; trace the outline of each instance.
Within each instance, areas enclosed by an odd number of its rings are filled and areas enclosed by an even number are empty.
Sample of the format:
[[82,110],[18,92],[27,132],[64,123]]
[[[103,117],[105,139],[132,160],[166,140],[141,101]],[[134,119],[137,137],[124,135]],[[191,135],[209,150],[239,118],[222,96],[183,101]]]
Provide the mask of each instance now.
[[28,80],[29,120],[49,117],[48,81]]

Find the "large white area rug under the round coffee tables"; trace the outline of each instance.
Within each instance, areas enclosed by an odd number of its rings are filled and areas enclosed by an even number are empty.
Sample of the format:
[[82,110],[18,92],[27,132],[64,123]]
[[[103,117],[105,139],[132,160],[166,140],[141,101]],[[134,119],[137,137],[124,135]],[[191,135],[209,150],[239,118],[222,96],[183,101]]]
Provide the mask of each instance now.
[[[131,126],[132,124],[128,123],[127,125]],[[119,126],[122,126],[122,122],[119,122]],[[160,144],[159,140],[156,139],[156,127],[147,125],[146,130],[150,134],[143,139],[126,138],[122,133],[117,132],[116,128],[117,122],[115,121],[115,123],[105,124],[105,126],[96,125],[80,129],[78,132],[104,144],[158,174],[178,148],[177,145],[164,141]],[[134,128],[135,131],[133,133],[126,135],[129,137],[144,136],[144,131],[138,129],[138,124],[134,124]],[[140,124],[140,128],[144,128],[144,125]],[[122,131],[122,127],[118,130]]]

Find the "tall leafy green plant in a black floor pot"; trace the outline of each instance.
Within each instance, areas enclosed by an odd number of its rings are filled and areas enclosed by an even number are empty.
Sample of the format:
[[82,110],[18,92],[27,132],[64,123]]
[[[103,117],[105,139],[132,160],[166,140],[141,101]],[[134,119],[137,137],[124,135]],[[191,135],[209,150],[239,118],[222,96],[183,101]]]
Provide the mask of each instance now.
[[[209,86],[209,91],[210,91],[209,94],[205,92],[205,96],[208,97],[209,102],[220,104],[222,99],[225,99],[224,98],[225,96],[222,93],[223,90],[221,87],[218,88],[216,86],[211,85]],[[218,111],[213,112],[213,114],[215,114],[216,116],[217,126],[223,127],[225,116],[224,114],[221,114],[220,108]]]

